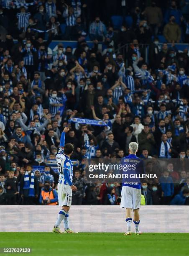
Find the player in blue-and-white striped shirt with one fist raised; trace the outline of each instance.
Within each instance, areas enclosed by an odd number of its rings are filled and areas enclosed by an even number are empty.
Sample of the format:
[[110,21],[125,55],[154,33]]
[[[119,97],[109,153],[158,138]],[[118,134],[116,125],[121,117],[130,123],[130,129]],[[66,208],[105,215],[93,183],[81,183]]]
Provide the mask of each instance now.
[[[58,218],[53,228],[55,233],[76,233],[69,228],[69,208],[72,203],[72,191],[76,191],[72,183],[73,179],[73,165],[72,161],[69,159],[74,151],[74,146],[71,143],[65,143],[65,133],[69,131],[68,127],[64,128],[60,139],[59,152],[56,155],[56,161],[58,165],[59,172],[59,182],[58,182],[58,197],[59,205],[61,205],[61,210],[58,214]],[[59,228],[62,220],[64,220],[64,232]]]

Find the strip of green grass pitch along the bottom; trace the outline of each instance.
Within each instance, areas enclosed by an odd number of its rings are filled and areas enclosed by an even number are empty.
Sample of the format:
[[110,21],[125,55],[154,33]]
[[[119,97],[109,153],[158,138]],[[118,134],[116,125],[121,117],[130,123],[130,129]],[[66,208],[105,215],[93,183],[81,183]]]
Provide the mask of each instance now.
[[[31,223],[32,225],[32,223]],[[189,255],[189,233],[56,234],[47,232],[0,232],[0,247],[31,248],[19,255],[87,255],[87,256],[183,256]],[[15,255],[18,253],[0,253]]]

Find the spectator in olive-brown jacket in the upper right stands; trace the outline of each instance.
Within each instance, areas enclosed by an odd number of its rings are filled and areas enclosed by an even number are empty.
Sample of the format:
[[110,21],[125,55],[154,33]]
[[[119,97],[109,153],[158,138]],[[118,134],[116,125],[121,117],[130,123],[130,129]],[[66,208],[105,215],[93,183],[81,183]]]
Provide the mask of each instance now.
[[180,42],[181,29],[179,25],[175,22],[175,17],[173,15],[170,16],[169,23],[167,23],[164,27],[163,35],[165,36],[168,43]]

